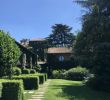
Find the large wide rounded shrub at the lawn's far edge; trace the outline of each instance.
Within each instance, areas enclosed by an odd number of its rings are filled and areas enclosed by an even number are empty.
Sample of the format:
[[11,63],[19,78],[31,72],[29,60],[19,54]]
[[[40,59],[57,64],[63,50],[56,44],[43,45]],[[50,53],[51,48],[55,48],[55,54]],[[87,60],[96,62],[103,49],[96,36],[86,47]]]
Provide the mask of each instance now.
[[69,69],[64,73],[68,80],[82,81],[88,76],[89,71],[86,68],[77,66],[76,68]]

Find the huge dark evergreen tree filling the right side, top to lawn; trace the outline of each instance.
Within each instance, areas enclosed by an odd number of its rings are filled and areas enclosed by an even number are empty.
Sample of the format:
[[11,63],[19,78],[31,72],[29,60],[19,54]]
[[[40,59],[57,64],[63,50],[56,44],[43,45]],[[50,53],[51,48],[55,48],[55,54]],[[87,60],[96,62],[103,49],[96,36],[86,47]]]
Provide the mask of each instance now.
[[[110,1],[77,0],[87,12],[83,16],[82,31],[78,34],[74,46],[75,59],[95,74],[95,83],[100,89],[110,88]],[[99,81],[100,79],[100,81]],[[94,81],[93,80],[93,81]],[[98,84],[94,84],[99,87]],[[105,90],[106,90],[105,89]]]

